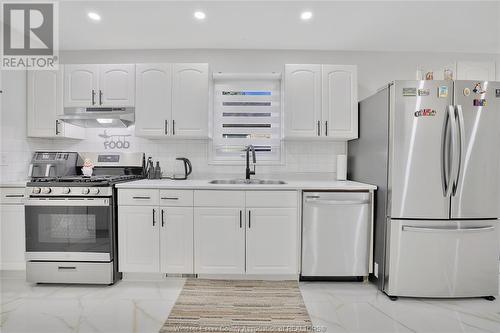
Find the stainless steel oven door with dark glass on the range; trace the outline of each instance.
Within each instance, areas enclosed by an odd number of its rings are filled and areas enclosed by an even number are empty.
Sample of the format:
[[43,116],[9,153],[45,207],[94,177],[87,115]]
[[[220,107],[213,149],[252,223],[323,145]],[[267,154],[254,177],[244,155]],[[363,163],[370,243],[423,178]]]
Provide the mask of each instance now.
[[28,198],[26,259],[113,260],[112,198]]

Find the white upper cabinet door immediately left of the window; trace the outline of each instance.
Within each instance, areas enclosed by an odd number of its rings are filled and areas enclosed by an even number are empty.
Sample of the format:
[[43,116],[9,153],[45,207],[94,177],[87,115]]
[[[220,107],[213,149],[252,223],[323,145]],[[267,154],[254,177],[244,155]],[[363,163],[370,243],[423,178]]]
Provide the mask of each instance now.
[[208,64],[174,64],[172,135],[208,137]]

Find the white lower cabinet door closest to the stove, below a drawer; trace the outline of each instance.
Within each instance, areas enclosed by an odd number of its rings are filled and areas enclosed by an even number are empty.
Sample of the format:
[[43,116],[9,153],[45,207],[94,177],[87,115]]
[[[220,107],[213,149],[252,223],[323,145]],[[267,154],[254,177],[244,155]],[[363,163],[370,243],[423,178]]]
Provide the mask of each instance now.
[[160,271],[159,212],[154,206],[118,207],[118,270]]

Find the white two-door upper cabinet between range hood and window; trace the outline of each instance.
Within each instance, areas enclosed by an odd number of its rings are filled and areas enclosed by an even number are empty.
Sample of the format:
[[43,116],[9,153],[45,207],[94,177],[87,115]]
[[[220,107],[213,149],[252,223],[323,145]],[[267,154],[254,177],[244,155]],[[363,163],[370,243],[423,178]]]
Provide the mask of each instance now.
[[208,138],[208,64],[138,64],[135,134]]

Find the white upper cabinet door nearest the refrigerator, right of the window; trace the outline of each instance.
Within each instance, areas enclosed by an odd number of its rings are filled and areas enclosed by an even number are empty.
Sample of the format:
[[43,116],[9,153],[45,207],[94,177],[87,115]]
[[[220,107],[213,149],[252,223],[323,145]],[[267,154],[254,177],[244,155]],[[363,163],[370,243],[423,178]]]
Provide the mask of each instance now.
[[358,137],[356,66],[323,65],[322,134],[332,139]]

